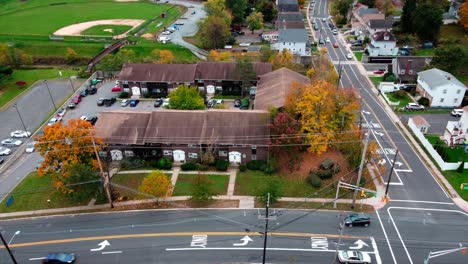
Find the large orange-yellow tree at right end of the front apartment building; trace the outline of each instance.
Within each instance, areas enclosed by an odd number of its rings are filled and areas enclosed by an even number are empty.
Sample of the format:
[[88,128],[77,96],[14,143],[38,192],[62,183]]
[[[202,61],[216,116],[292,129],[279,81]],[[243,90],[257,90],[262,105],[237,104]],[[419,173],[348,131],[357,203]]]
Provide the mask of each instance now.
[[293,84],[286,99],[286,109],[300,118],[300,132],[305,134],[308,150],[315,154],[327,151],[353,129],[358,108],[353,91],[323,80]]

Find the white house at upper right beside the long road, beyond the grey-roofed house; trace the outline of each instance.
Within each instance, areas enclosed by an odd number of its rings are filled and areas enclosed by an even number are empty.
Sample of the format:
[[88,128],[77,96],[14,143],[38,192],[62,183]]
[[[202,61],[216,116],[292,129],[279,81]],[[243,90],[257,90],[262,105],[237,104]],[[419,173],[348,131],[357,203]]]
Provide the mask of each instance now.
[[398,47],[392,33],[379,31],[371,36],[371,43],[367,44],[369,56],[396,56]]

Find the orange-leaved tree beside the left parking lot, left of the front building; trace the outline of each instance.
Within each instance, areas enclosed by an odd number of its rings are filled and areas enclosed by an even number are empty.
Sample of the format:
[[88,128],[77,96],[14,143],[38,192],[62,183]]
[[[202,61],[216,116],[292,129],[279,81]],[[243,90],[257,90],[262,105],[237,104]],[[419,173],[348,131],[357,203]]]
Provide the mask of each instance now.
[[[85,164],[97,169],[93,148],[93,131],[89,122],[71,119],[67,125],[58,122],[44,127],[44,134],[36,138],[36,149],[44,157],[38,168],[39,176],[51,176],[54,186],[63,193],[73,193],[77,165]],[[95,138],[96,146],[101,140]],[[97,147],[99,148],[99,147]],[[99,150],[99,149],[98,149]],[[94,178],[94,177],[93,177]],[[96,179],[99,176],[96,174]]]

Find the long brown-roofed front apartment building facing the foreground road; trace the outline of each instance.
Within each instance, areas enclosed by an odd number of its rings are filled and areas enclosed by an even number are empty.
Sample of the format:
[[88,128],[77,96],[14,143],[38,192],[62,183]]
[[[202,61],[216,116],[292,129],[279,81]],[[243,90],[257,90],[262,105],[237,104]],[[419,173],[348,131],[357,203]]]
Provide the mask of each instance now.
[[115,156],[183,163],[211,151],[240,164],[267,159],[269,122],[267,111],[256,110],[110,111],[100,114],[95,131]]

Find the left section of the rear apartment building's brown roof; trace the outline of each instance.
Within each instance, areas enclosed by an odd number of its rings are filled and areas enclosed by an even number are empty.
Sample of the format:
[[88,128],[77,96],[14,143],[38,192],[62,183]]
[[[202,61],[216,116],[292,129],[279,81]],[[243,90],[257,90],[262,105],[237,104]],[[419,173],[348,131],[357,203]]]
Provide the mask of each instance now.
[[195,79],[196,64],[125,64],[119,73],[122,81],[179,82]]

